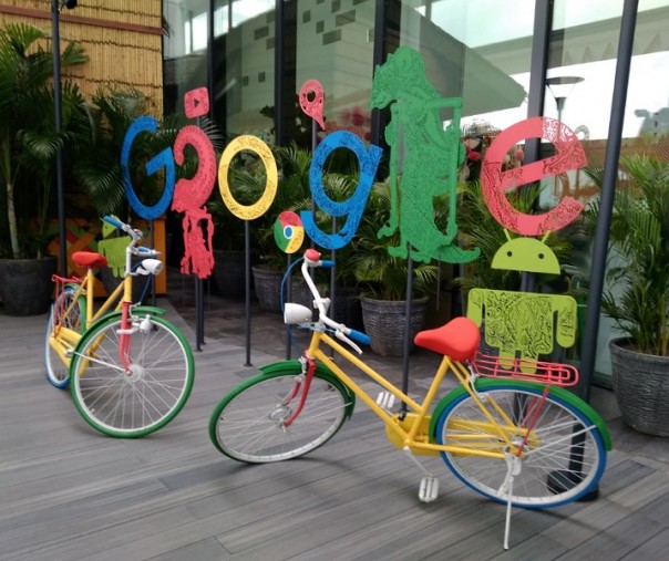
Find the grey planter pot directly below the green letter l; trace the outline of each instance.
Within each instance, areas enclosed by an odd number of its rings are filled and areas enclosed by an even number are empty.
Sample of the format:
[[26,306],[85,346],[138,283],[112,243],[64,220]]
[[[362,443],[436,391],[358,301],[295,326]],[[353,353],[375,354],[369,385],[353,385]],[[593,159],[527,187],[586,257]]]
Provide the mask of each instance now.
[[[361,304],[364,332],[371,339],[372,351],[382,356],[402,356],[406,302],[362,297]],[[410,350],[413,350],[414,346],[413,337],[425,326],[426,310],[426,297],[412,300]]]

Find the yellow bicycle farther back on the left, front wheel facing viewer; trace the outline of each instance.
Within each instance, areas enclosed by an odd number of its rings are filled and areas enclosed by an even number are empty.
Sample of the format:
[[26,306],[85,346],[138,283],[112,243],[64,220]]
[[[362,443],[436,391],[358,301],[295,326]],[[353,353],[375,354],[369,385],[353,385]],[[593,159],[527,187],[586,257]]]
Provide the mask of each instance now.
[[[185,405],[194,380],[186,337],[163,318],[165,311],[133,303],[133,278],[159,274],[158,252],[140,246],[142,231],[114,217],[103,218],[128,236],[123,282],[94,309],[95,269],[106,258],[78,251],[72,261],[83,279],[54,276],[44,345],[47,378],[70,385],[82,417],[95,429],[133,438],[165,426]],[[132,267],[133,256],[142,258]]]

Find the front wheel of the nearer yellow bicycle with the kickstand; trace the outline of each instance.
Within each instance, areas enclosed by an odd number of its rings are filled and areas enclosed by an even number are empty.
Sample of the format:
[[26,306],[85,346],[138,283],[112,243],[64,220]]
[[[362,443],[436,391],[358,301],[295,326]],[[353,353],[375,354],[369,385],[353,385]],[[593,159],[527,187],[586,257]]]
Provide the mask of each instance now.
[[299,403],[282,405],[300,374],[290,368],[253,376],[230,391],[214,408],[209,438],[224,455],[248,464],[298,458],[326,444],[351,411],[351,397],[333,375],[317,371],[303,409],[287,428],[281,425]]

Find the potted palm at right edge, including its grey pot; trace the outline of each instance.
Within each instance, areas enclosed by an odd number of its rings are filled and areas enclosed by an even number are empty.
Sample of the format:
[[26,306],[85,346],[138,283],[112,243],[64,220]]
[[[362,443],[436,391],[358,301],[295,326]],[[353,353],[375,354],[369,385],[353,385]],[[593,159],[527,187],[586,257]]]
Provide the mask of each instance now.
[[[597,205],[586,216],[591,226]],[[620,159],[609,248],[601,310],[622,335],[609,343],[614,393],[625,423],[669,436],[669,164]]]

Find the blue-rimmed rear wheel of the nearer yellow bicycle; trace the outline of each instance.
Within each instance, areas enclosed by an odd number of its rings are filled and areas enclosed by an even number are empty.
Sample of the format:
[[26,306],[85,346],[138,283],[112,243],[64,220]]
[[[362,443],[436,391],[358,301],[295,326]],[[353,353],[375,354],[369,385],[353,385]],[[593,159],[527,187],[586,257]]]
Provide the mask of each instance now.
[[[514,477],[512,503],[522,508],[557,507],[579,499],[597,486],[606,466],[606,448],[599,428],[573,403],[548,394],[541,405],[534,428],[527,434],[532,406],[543,396],[543,386],[513,383],[477,384],[476,393],[485,404],[497,404],[515,423],[512,441],[519,445],[527,436],[527,455],[521,472]],[[572,401],[572,399],[570,399]],[[488,407],[488,409],[491,409]],[[505,423],[498,413],[495,420]],[[586,429],[583,438],[574,433]],[[478,440],[471,444],[474,435]],[[501,450],[501,437],[469,393],[452,401],[441,413],[435,438],[439,444],[487,447]],[[580,441],[583,440],[583,441]],[[579,455],[583,457],[578,468]],[[504,459],[442,451],[442,458],[466,486],[497,502],[507,502],[501,491],[507,474]]]

